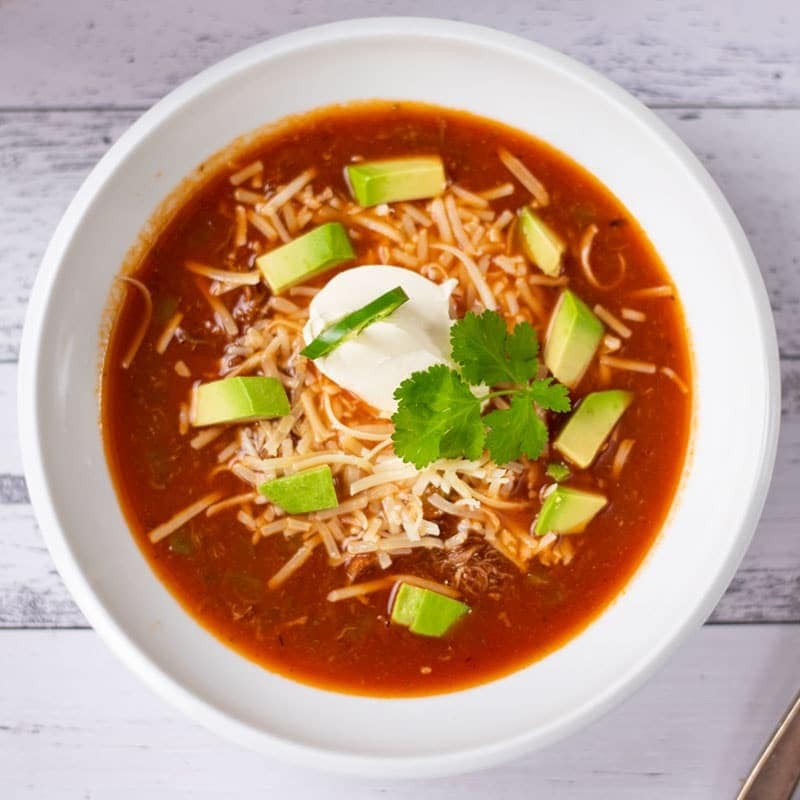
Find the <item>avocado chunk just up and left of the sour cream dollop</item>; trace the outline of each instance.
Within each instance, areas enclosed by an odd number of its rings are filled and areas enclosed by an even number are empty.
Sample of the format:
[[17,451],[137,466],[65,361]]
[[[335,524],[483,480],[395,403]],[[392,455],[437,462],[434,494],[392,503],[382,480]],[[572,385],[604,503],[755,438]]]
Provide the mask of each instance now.
[[355,258],[341,222],[326,222],[256,259],[275,294]]

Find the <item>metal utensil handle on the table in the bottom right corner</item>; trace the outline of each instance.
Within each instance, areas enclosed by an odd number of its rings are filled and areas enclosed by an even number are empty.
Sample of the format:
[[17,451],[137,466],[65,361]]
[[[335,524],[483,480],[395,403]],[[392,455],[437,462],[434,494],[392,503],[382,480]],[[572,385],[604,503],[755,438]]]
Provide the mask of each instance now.
[[800,780],[800,694],[756,761],[736,800],[789,800]]

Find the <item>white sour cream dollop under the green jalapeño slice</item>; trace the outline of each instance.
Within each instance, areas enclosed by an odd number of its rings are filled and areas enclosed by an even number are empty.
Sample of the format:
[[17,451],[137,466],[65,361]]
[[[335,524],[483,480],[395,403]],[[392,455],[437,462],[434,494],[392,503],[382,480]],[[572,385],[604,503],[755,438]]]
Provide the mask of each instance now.
[[340,272],[314,296],[303,339],[309,344],[322,330],[396,286],[408,302],[384,320],[314,360],[339,386],[379,411],[392,414],[394,390],[412,372],[450,357],[450,295],[454,280],[442,284],[401,267],[371,264]]

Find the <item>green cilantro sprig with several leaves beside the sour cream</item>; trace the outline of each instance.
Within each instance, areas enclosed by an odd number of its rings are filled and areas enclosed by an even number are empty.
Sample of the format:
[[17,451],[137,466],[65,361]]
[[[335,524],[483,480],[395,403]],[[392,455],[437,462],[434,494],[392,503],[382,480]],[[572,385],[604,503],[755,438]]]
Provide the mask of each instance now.
[[[521,455],[537,459],[547,444],[539,410],[570,410],[567,387],[537,378],[539,342],[527,322],[509,332],[495,311],[467,314],[450,329],[458,369],[436,364],[414,372],[394,393],[394,449],[422,468],[437,458],[478,458],[484,449],[497,464]],[[484,387],[473,391],[472,387]],[[488,393],[485,390],[488,387]],[[485,416],[487,399],[506,397],[509,407]]]

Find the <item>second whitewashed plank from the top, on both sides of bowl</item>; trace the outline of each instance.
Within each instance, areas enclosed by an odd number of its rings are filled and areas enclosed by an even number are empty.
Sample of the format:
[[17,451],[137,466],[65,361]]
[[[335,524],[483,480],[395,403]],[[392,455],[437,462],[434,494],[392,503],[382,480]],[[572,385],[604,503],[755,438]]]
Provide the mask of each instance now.
[[[782,350],[800,355],[800,110],[661,113],[728,194],[760,260]],[[17,356],[25,303],[61,213],[135,116],[0,114],[0,360]]]

